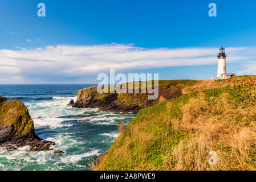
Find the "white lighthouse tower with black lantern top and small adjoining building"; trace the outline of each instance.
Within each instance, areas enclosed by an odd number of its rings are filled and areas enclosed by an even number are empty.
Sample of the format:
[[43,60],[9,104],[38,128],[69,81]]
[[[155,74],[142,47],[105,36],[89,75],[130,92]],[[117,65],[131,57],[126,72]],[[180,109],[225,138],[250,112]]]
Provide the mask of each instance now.
[[216,79],[226,79],[234,76],[236,76],[234,71],[233,73],[227,73],[225,48],[221,47],[218,54],[218,71]]

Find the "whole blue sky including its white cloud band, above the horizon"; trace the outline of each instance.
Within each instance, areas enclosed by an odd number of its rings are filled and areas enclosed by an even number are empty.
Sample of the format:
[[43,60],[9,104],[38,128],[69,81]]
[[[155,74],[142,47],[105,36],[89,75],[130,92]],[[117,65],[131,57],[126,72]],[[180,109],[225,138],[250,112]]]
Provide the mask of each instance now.
[[0,22],[0,84],[91,84],[109,68],[208,79],[221,46],[228,72],[256,74],[254,0],[2,0]]

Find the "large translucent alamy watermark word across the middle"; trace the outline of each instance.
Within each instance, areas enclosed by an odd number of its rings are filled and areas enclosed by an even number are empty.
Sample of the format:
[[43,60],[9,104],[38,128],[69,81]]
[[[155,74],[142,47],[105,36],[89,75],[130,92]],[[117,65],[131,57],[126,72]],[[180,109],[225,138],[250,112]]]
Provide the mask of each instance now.
[[[154,73],[118,73],[110,69],[109,76],[106,73],[97,75],[97,92],[99,93],[148,93],[148,100],[156,100],[159,97],[159,74]],[[116,82],[117,81],[117,82]],[[128,84],[127,84],[128,82]],[[127,89],[128,85],[128,89]],[[133,88],[134,85],[134,88]]]

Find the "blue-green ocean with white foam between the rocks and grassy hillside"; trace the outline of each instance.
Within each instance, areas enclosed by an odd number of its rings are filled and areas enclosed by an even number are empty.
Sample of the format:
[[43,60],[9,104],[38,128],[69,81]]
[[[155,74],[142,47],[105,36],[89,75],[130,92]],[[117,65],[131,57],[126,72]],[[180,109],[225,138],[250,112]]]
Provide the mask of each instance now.
[[54,151],[30,152],[0,148],[0,170],[89,170],[90,162],[119,136],[121,121],[127,125],[135,113],[112,113],[67,106],[78,90],[94,85],[0,85],[0,96],[21,100],[29,109],[35,133],[56,145]]

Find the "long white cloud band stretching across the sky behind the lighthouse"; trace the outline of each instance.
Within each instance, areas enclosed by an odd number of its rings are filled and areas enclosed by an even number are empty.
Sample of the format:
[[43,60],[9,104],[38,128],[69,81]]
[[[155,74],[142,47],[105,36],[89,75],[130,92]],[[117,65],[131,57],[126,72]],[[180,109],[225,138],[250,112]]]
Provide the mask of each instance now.
[[[226,48],[227,63],[256,58],[256,48]],[[218,48],[141,48],[133,44],[47,46],[18,51],[0,49],[0,73],[23,77],[83,77],[185,65],[217,64]],[[256,59],[255,59],[256,60]],[[255,62],[254,62],[255,63]],[[252,70],[256,73],[256,68]]]

